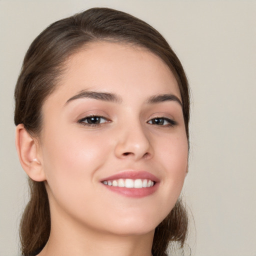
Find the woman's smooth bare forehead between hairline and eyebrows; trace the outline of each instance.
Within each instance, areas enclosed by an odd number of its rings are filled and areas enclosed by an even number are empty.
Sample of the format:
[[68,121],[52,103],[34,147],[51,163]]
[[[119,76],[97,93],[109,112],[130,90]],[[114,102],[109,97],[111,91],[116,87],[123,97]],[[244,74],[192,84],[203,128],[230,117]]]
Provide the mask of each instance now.
[[[174,93],[177,81],[166,63],[149,50],[124,43],[93,42],[72,54],[55,93],[84,89],[133,95]],[[54,94],[54,92],[53,92]]]

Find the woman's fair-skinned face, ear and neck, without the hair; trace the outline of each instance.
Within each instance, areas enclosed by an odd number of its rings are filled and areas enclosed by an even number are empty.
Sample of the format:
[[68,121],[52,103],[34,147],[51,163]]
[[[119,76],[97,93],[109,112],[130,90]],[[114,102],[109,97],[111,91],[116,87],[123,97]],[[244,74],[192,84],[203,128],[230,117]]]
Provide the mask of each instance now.
[[[49,197],[51,233],[39,256],[151,255],[187,170],[179,101],[168,66],[144,48],[97,42],[67,60],[39,137],[16,129],[22,167]],[[123,187],[126,179],[139,187]]]

